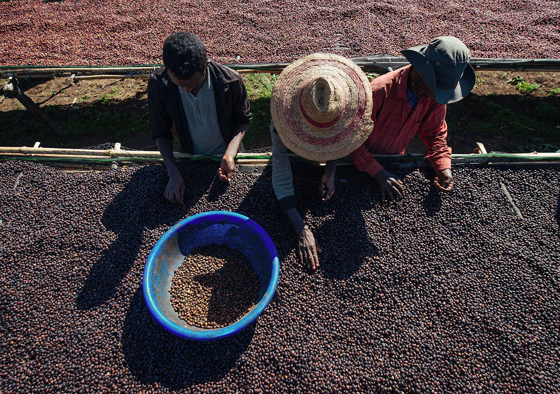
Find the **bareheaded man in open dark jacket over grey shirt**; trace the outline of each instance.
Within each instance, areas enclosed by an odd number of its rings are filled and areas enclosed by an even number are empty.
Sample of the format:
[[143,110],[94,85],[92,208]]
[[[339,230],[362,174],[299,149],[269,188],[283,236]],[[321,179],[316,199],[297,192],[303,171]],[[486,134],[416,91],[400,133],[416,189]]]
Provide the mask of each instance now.
[[173,137],[183,152],[223,155],[218,177],[229,182],[252,115],[239,73],[208,59],[197,36],[182,31],[167,37],[163,59],[165,67],[148,81],[150,130],[169,174],[165,197],[182,204],[185,183],[175,164]]

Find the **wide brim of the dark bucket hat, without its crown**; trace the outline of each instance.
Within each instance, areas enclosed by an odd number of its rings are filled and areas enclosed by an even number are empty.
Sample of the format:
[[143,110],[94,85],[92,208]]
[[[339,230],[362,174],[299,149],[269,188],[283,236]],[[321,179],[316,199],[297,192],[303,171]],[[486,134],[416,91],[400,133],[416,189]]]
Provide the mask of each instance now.
[[436,73],[433,70],[433,66],[429,62],[427,63],[426,56],[423,55],[423,51],[426,48],[427,45],[418,45],[409,49],[404,49],[400,51],[400,53],[407,58],[410,64],[412,64],[412,67],[421,75],[438,103],[451,104],[465,98],[465,96],[472,91],[477,80],[472,65],[469,63],[466,64],[463,76],[459,79],[454,89],[438,88],[436,84]]

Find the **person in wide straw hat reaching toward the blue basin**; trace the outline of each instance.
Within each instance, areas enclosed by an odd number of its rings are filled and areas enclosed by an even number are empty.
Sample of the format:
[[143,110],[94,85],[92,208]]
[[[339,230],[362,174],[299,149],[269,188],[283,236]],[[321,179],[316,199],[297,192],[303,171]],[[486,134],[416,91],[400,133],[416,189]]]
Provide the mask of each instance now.
[[272,184],[296,231],[298,259],[308,269],[318,267],[321,249],[297,212],[288,149],[305,159],[326,162],[319,197],[329,200],[337,160],[362,145],[372,130],[371,96],[360,67],[338,55],[305,56],[284,69],[274,83],[270,97]]

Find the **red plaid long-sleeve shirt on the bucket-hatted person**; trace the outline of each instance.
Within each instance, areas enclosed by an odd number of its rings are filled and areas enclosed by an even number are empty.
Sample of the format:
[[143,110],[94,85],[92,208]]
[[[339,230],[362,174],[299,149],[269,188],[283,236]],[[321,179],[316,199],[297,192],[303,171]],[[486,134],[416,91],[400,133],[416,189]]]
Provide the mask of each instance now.
[[371,81],[374,130],[360,148],[350,156],[361,171],[375,177],[383,167],[375,154],[403,154],[414,133],[426,144],[426,158],[437,172],[451,168],[451,148],[447,146],[445,105],[434,98],[420,97],[414,108],[407,98],[410,66],[381,75]]

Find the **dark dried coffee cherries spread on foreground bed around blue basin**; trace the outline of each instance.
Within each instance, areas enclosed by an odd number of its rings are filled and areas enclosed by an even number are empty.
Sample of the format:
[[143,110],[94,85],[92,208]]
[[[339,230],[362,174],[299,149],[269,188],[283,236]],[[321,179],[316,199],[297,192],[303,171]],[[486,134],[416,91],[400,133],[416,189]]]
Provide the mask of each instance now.
[[[313,274],[270,167],[230,186],[216,163],[180,169],[179,207],[163,165],[0,163],[0,392],[560,392],[558,168],[457,166],[447,194],[432,170],[389,168],[405,195],[381,204],[351,165],[321,202],[321,168],[294,164],[323,248]],[[142,272],[170,226],[209,210],[262,225],[281,272],[253,325],[199,343],[155,322]]]

